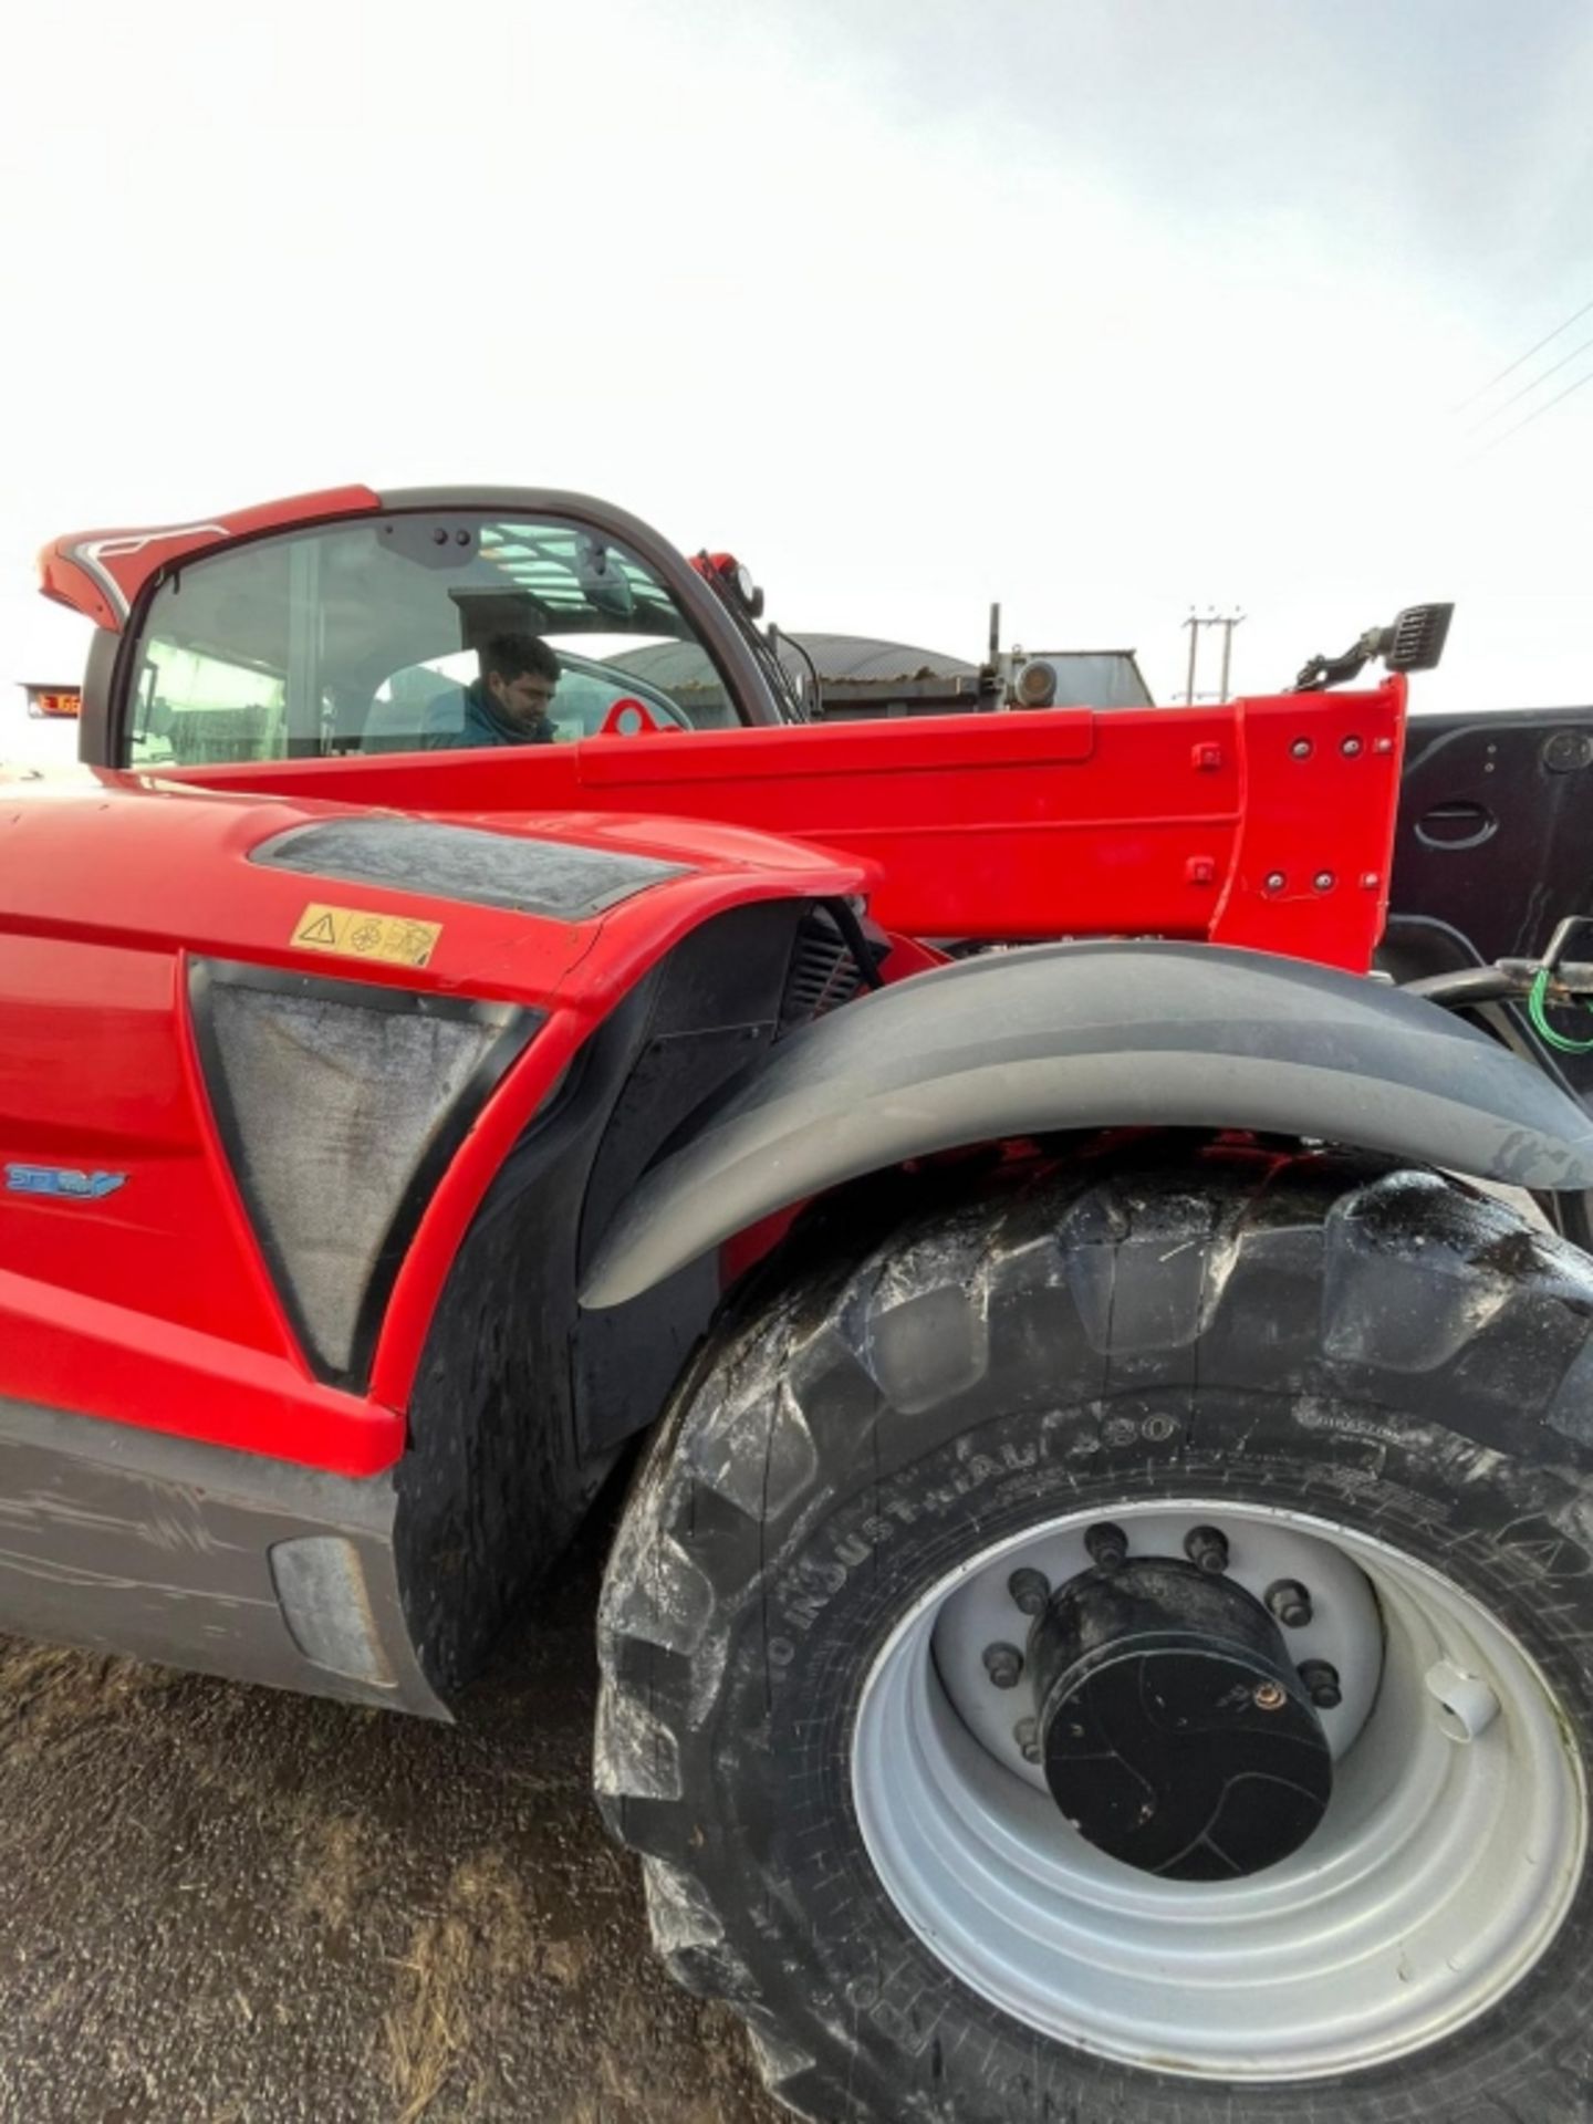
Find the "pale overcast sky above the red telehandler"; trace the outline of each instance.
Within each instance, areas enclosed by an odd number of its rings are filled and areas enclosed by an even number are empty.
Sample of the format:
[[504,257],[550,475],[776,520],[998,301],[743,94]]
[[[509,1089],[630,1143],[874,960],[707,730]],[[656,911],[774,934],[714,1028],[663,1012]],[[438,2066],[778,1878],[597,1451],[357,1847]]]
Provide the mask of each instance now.
[[0,682],[47,535],[491,480],[796,629],[1166,699],[1192,603],[1264,690],[1455,597],[1427,705],[1589,701],[1593,387],[1506,429],[1593,348],[1495,408],[1593,312],[1455,410],[1593,302],[1589,110],[1587,0],[13,8]]

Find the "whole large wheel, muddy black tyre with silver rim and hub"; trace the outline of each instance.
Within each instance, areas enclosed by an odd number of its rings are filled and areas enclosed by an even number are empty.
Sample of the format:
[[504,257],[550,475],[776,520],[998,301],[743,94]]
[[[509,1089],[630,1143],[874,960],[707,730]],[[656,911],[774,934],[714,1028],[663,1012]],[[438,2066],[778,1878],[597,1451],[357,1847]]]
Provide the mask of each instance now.
[[601,1606],[656,1946],[826,2124],[1587,2124],[1593,1262],[1160,1158],[703,1353]]

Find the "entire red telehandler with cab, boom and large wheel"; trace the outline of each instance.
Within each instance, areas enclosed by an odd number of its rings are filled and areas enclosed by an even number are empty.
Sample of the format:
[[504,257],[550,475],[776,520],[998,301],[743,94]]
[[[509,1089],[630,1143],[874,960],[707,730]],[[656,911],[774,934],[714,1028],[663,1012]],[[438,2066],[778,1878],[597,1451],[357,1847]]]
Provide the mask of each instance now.
[[1593,712],[826,726],[567,493],[42,573],[0,1625],[448,1716],[633,1463],[597,1799],[792,2109],[1585,2124]]

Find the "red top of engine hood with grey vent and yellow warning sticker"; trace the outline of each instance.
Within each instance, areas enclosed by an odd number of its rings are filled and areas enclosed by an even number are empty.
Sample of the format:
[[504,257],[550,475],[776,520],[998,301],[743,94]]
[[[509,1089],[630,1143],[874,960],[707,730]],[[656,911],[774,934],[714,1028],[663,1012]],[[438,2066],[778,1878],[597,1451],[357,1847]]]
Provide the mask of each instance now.
[[709,915],[860,894],[871,867],[701,820],[378,811],[96,771],[6,786],[0,879],[21,932],[514,1003],[580,964],[597,1007]]

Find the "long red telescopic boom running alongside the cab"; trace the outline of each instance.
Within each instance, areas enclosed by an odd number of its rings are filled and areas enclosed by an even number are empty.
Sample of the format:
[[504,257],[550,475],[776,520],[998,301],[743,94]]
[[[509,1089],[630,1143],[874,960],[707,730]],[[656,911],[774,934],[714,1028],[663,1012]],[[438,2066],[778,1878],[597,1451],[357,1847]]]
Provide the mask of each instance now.
[[1366,973],[1387,913],[1404,680],[1202,709],[637,733],[270,760],[174,780],[452,818],[724,820],[875,867],[907,937],[1187,937]]

